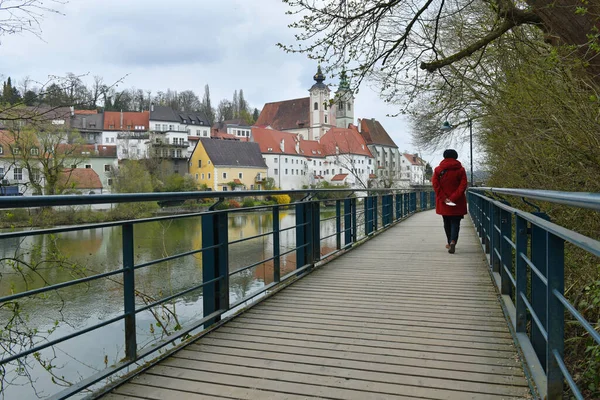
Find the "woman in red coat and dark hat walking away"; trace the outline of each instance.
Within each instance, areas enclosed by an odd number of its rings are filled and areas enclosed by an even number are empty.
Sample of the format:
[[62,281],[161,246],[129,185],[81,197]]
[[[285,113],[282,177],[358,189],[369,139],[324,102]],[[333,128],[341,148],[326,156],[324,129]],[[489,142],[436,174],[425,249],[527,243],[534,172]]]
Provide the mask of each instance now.
[[453,254],[458,242],[460,220],[467,213],[467,173],[457,160],[456,150],[444,151],[444,159],[433,171],[431,183],[435,190],[435,212],[444,219],[448,253]]

